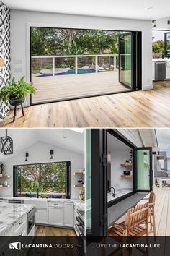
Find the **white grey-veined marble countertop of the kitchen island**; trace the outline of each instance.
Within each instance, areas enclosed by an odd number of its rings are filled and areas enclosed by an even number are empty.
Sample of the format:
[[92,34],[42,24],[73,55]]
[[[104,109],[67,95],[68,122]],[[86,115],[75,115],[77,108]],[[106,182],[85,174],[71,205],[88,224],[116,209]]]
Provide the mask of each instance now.
[[0,203],[0,236],[14,225],[19,218],[35,208],[35,205]]

